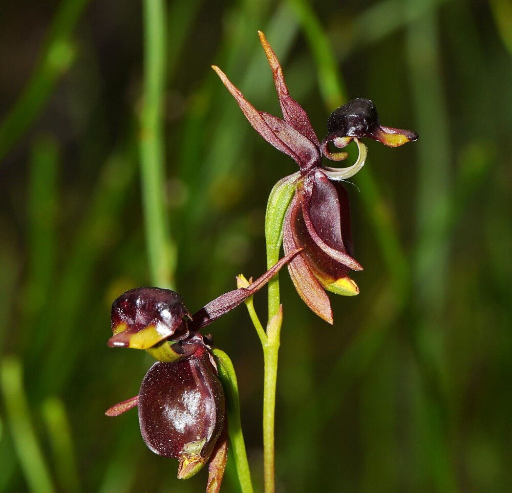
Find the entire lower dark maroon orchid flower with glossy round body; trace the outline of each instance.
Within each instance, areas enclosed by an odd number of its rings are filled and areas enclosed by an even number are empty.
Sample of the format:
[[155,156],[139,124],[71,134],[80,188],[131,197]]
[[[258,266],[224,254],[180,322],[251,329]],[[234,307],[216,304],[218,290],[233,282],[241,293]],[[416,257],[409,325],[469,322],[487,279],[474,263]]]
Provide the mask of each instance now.
[[112,406],[118,416],[135,406],[146,445],[179,460],[178,478],[208,466],[207,492],[219,490],[227,458],[224,392],[211,342],[198,331],[258,292],[300,250],[286,255],[247,287],[229,291],[194,315],[175,291],[136,288],[112,304],[109,346],[145,349],[158,360],[139,394]]

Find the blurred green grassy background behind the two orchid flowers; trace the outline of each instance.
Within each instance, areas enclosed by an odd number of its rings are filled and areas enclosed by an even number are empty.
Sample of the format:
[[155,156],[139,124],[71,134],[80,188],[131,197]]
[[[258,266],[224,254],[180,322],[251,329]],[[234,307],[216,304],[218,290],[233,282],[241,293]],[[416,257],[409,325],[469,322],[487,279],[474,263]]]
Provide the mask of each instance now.
[[[420,135],[368,142],[347,185],[365,270],[334,326],[281,275],[278,491],[510,488],[510,0],[19,0],[0,16],[0,491],[204,490],[135,411],[104,416],[152,362],[106,347],[110,304],[160,280],[195,311],[265,270],[266,199],[296,166],[210,69],[278,115],[258,29],[320,138],[355,97]],[[243,307],[209,329],[261,491],[260,343]]]

